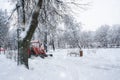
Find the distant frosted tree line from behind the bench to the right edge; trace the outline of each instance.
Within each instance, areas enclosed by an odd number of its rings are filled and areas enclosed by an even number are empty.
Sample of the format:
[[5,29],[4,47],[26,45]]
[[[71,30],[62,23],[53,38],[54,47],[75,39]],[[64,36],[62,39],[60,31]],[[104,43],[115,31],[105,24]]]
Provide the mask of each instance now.
[[120,25],[102,25],[96,31],[80,31],[81,29],[76,29],[76,25],[71,25],[71,27],[73,29],[67,28],[67,31],[64,31],[64,34],[59,37],[60,45],[63,48],[76,48],[78,47],[77,44],[81,48],[120,47]]

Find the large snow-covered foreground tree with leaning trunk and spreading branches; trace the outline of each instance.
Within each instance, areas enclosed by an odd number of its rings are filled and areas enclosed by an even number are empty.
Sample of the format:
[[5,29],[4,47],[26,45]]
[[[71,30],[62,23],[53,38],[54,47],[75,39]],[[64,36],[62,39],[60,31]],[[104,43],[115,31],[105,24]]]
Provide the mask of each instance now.
[[[17,0],[18,26],[22,27],[20,34],[21,39],[19,41],[20,63],[25,64],[25,66],[29,68],[27,49],[38,24],[40,29],[41,26],[45,26],[45,30],[50,27],[52,32],[54,32],[54,28],[64,18],[64,15],[73,13],[73,6],[84,9],[85,5],[83,4],[87,5],[84,1],[80,3],[76,0]],[[53,37],[52,42],[54,43],[55,34],[51,34]]]

